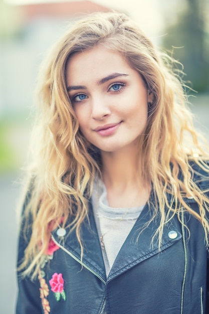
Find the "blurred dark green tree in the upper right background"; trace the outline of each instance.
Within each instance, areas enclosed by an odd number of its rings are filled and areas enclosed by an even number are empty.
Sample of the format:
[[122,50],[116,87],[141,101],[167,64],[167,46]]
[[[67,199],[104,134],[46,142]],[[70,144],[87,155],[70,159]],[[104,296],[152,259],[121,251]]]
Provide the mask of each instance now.
[[[184,66],[185,81],[196,91],[209,90],[209,45],[206,32],[207,0],[184,0],[174,23],[167,22],[162,47]],[[182,8],[182,0],[181,0]],[[176,49],[175,49],[176,48]],[[178,49],[177,49],[178,48]]]

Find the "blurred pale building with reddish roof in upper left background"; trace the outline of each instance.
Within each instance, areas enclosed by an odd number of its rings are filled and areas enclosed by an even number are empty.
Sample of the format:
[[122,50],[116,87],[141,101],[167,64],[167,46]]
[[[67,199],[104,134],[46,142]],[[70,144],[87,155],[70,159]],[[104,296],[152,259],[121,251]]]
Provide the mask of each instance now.
[[39,64],[70,23],[85,14],[110,10],[91,1],[22,5],[15,9],[21,17],[16,35],[1,41],[0,116],[30,110]]

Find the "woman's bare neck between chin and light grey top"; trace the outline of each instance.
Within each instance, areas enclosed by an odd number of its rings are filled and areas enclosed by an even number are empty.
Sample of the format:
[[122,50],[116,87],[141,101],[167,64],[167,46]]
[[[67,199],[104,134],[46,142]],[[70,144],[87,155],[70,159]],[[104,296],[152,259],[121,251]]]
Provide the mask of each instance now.
[[102,179],[106,186],[111,207],[144,205],[150,188],[140,176],[138,154],[134,149],[117,152],[101,152]]

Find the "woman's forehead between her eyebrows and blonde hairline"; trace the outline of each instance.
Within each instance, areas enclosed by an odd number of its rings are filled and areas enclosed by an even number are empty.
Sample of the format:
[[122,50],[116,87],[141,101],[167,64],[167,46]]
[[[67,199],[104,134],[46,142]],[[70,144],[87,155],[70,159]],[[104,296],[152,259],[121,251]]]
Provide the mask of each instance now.
[[80,81],[98,80],[110,73],[129,74],[131,71],[135,70],[122,54],[103,46],[96,46],[70,57],[66,66],[66,77],[68,84],[80,84]]

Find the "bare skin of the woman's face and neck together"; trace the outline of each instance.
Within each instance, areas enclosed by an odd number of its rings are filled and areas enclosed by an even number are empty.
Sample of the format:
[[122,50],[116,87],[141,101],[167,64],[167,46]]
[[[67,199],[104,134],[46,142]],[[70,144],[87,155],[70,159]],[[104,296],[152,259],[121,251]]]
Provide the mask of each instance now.
[[99,45],[73,55],[66,74],[80,130],[101,149],[110,205],[118,206],[119,197],[126,206],[127,195],[128,200],[135,195],[137,205],[144,204],[148,192],[139,196],[139,187],[146,189],[136,182],[136,141],[146,126],[147,103],[152,100],[144,81],[121,54]]

